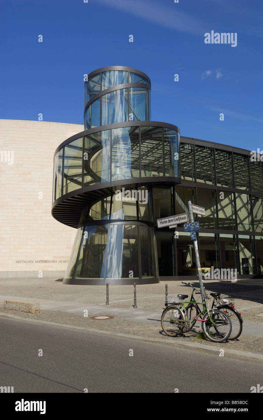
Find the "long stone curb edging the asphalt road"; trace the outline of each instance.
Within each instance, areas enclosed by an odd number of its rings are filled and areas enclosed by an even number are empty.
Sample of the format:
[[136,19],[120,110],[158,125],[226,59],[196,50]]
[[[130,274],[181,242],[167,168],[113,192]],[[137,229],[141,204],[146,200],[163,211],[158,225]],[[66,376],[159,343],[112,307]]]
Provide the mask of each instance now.
[[[109,335],[109,336],[116,336],[116,337],[123,337],[126,339],[134,339],[134,340],[139,340],[139,341],[147,341],[147,342],[153,342],[153,343],[158,343],[158,344],[165,344],[168,346],[174,346],[176,348],[180,348],[180,349],[185,349],[185,350],[193,350],[193,351],[197,351],[197,352],[204,352],[206,354],[213,354],[215,356],[219,356],[220,353],[220,344],[218,343],[218,348],[211,348],[208,345],[205,345],[203,343],[198,344],[193,344],[193,343],[180,343],[180,342],[174,342],[174,341],[163,341],[160,339],[155,339],[152,337],[144,337],[144,336],[138,336],[138,335],[132,335],[132,334],[124,334],[124,333],[118,333],[115,331],[105,331],[105,330],[100,330],[97,328],[89,328],[89,327],[80,327],[78,325],[70,325],[70,324],[61,324],[58,322],[51,322],[51,321],[43,321],[43,320],[37,320],[37,319],[32,319],[32,318],[22,318],[18,315],[9,315],[6,314],[5,312],[0,312],[0,317],[6,317],[6,318],[13,318],[16,320],[20,320],[20,321],[26,321],[26,322],[32,322],[32,323],[39,323],[39,324],[45,324],[45,325],[52,325],[55,327],[63,327],[63,328],[71,328],[71,329],[75,329],[75,330],[81,330],[81,331],[87,331],[87,332],[91,332],[91,333],[98,333],[98,334],[105,334],[105,335]],[[231,358],[231,359],[238,359],[238,360],[245,360],[248,362],[255,362],[255,363],[263,363],[263,355],[261,354],[257,354],[257,353],[250,353],[250,352],[237,352],[236,350],[231,350],[231,349],[225,349],[224,350],[224,357],[226,358]]]

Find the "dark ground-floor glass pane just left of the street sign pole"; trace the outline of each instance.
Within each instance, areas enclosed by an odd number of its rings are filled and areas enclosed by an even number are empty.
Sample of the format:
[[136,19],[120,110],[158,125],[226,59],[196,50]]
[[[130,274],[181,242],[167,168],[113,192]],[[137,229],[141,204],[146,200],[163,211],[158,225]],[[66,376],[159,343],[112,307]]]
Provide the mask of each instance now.
[[193,241],[189,233],[179,232],[176,239],[177,276],[196,276],[196,260]]

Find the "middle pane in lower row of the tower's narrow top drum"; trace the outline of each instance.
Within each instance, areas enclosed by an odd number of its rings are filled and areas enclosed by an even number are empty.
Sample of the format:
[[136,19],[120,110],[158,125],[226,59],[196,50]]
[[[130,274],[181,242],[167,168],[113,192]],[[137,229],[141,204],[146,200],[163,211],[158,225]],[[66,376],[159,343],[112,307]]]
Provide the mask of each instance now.
[[101,125],[128,121],[128,89],[118,89],[102,96]]

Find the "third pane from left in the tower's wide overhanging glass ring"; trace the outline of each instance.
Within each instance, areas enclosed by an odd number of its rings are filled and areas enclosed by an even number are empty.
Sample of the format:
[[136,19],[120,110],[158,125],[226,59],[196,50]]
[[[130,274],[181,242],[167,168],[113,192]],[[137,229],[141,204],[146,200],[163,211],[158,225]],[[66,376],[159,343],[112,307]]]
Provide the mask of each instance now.
[[110,181],[110,130],[84,138],[84,185]]

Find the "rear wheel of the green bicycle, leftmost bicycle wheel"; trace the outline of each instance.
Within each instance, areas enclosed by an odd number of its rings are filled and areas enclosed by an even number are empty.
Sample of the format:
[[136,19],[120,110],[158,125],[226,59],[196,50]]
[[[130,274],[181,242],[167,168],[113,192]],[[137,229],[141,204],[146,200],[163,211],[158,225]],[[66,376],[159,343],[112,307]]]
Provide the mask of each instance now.
[[180,320],[184,320],[184,314],[181,309],[176,306],[168,306],[162,313],[161,325],[167,336],[177,337],[183,331],[184,324]]

